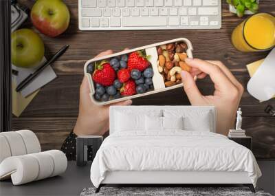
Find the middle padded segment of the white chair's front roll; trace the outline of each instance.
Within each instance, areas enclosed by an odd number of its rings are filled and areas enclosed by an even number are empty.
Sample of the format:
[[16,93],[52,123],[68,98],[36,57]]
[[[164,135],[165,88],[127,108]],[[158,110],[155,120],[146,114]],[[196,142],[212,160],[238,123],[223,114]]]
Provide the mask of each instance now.
[[54,171],[54,160],[52,159],[52,156],[47,153],[47,151],[30,154],[30,156],[35,157],[39,162],[39,175],[35,180],[47,178],[52,175]]

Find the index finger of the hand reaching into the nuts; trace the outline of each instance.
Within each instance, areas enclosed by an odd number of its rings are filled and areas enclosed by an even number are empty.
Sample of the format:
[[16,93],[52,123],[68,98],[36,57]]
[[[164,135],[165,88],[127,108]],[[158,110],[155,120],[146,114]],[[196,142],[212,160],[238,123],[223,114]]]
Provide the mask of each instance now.
[[197,58],[186,58],[186,63],[190,65],[190,67],[198,68],[202,72],[209,74],[211,80],[218,90],[227,91],[228,89],[232,88],[232,86],[234,87],[228,76],[223,73],[219,66]]

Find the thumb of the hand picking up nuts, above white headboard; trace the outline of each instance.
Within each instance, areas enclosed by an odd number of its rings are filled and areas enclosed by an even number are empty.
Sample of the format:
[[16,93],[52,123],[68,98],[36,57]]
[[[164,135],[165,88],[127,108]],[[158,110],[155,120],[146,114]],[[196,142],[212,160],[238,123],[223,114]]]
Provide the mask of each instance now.
[[181,81],[184,84],[184,91],[186,92],[191,105],[203,104],[203,96],[197,88],[194,78],[192,78],[189,72],[181,71]]

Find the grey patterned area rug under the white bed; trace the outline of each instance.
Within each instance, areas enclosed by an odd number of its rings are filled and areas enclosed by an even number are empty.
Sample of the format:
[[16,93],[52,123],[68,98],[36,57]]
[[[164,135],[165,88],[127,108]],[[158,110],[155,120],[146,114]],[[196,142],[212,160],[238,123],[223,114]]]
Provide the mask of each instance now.
[[146,196],[272,196],[270,193],[264,193],[263,190],[256,189],[252,193],[247,187],[102,187],[99,193],[95,193],[96,188],[84,188],[80,196],[100,196],[100,195],[146,195]]

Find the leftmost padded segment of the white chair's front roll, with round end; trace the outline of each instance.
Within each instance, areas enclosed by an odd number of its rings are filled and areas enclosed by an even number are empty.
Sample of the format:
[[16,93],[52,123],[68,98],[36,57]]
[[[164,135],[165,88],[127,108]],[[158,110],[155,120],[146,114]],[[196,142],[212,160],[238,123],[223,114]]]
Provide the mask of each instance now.
[[8,157],[0,164],[0,177],[10,174],[14,185],[32,182],[39,175],[39,162],[30,155]]

